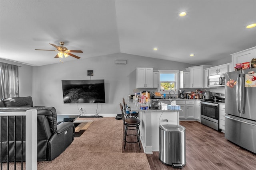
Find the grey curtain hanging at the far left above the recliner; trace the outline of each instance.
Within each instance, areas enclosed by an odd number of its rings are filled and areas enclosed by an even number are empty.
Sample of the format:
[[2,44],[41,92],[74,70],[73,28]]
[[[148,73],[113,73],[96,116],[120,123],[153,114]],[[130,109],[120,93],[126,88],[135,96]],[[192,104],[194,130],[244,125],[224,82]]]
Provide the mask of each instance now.
[[18,66],[0,63],[0,98],[19,97]]

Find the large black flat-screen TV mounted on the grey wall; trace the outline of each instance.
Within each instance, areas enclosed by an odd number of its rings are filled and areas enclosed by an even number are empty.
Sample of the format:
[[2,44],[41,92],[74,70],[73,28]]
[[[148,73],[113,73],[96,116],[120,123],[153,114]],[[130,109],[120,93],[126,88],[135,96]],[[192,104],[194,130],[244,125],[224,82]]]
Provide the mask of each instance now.
[[105,103],[104,80],[62,80],[64,103]]

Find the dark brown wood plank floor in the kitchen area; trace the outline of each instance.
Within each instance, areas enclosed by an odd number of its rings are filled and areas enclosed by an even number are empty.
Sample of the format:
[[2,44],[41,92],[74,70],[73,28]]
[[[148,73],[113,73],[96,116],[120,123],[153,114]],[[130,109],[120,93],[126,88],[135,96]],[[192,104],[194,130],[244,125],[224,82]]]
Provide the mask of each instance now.
[[[224,133],[198,121],[180,121],[180,125],[186,127],[184,170],[256,170],[256,154],[231,143]],[[144,151],[138,143],[126,143],[123,152]],[[159,152],[147,154],[147,158],[151,170],[175,170],[159,160]]]

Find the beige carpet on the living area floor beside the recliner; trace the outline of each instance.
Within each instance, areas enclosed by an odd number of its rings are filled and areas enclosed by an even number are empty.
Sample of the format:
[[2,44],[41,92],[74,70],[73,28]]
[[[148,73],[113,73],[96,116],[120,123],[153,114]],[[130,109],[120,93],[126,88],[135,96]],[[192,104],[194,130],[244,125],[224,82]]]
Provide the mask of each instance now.
[[145,153],[122,153],[122,120],[77,120],[94,122],[60,156],[50,162],[38,162],[38,170],[150,170]]

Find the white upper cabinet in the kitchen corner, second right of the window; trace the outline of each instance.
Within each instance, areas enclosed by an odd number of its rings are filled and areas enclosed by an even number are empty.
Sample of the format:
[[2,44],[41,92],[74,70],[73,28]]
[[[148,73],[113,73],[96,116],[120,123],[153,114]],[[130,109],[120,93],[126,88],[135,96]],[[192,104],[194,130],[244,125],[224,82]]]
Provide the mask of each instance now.
[[188,67],[186,70],[190,70],[190,88],[204,88],[204,69],[210,66],[193,66]]

